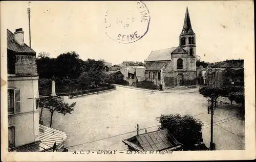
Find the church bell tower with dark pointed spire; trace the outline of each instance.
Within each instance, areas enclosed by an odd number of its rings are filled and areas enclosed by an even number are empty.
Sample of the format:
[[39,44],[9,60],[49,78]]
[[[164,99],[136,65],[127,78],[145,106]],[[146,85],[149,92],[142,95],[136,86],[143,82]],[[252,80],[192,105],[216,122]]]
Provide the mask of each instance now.
[[186,9],[184,25],[180,34],[180,46],[190,57],[196,57],[196,34],[192,30],[188,9]]

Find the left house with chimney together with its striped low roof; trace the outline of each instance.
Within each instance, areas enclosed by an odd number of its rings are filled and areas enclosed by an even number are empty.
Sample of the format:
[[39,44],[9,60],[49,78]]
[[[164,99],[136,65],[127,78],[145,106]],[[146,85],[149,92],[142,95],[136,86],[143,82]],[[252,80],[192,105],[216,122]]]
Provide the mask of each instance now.
[[7,29],[7,73],[9,151],[60,150],[67,134],[39,124],[36,52],[24,43],[22,29]]

